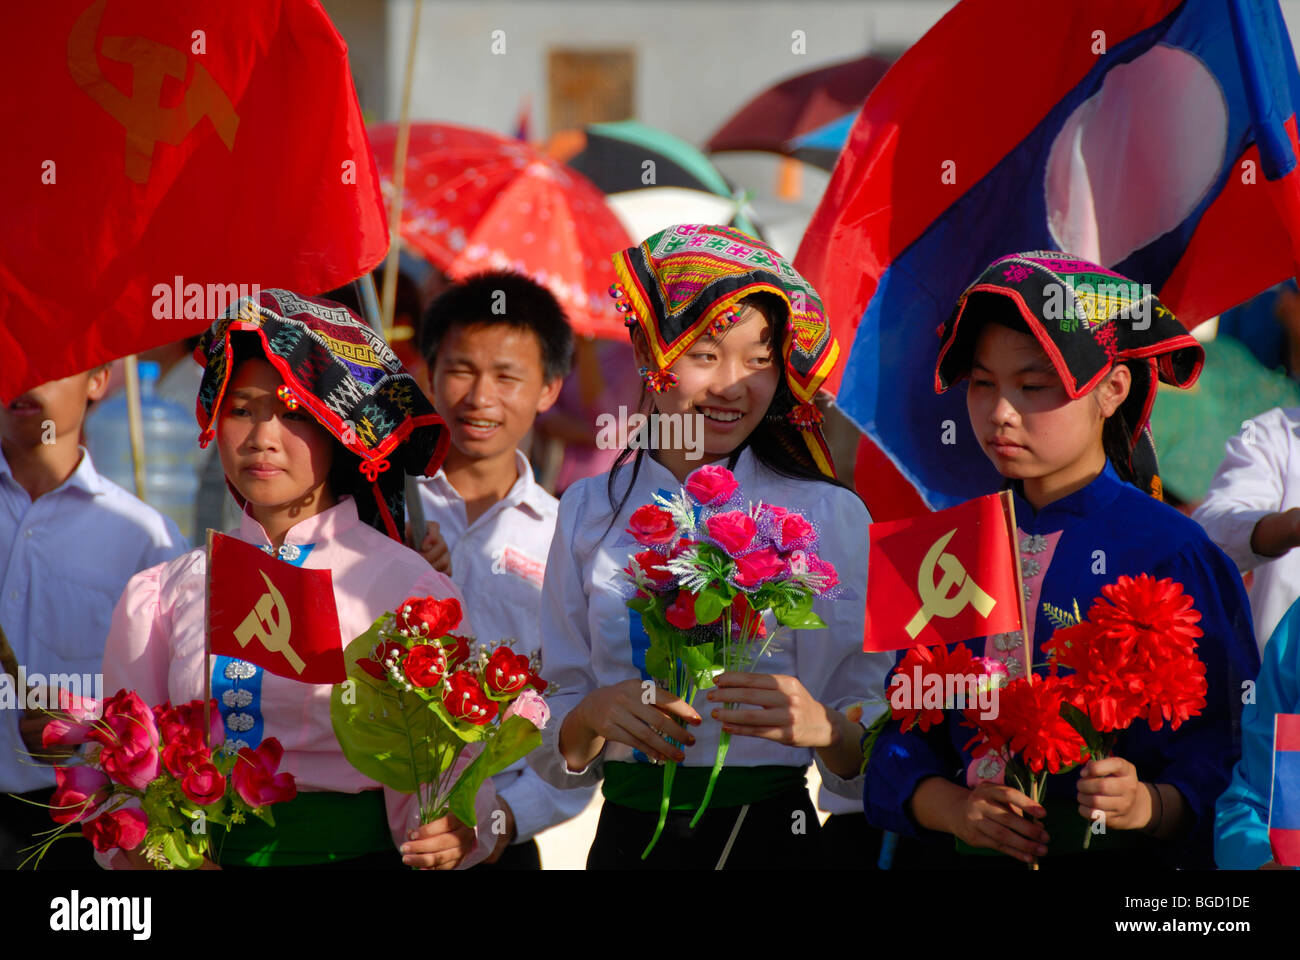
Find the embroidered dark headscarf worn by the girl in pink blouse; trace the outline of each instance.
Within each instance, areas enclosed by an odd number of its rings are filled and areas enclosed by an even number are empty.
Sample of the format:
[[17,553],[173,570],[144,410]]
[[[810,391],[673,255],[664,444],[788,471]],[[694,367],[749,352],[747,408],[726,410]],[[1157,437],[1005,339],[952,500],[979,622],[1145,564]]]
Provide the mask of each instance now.
[[194,350],[204,367],[195,401],[202,446],[216,436],[212,423],[230,380],[230,334],[242,332],[261,340],[266,360],[285,381],[281,398],[308,410],[358,458],[355,471],[334,464],[334,494],[351,494],[363,520],[400,542],[404,476],[437,473],[451,434],[384,337],[332,300],[287,290],[242,298]]

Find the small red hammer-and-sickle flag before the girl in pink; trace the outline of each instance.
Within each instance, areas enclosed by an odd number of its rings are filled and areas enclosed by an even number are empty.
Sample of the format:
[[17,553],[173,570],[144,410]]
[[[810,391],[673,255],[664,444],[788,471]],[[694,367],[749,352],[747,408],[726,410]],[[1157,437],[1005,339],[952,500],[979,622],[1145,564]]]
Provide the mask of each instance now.
[[209,652],[303,683],[342,683],[343,639],[328,570],[304,570],[252,544],[212,535]]

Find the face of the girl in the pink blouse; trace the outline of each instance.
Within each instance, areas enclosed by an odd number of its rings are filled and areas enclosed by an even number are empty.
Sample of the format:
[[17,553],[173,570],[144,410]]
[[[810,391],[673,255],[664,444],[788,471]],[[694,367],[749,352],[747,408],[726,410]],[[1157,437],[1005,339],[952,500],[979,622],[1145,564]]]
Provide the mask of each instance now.
[[285,406],[276,395],[282,382],[264,359],[239,364],[221,401],[221,466],[255,509],[324,510],[334,502],[329,492],[334,437],[302,407]]

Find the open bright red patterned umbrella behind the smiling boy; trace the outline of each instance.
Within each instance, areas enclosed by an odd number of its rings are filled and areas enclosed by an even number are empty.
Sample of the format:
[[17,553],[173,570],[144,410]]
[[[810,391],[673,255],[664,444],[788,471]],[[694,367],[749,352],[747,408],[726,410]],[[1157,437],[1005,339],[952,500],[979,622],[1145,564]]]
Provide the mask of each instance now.
[[[369,129],[393,196],[396,125]],[[590,181],[520,140],[450,124],[412,124],[402,239],[451,277],[526,273],[555,294],[573,329],[623,338],[610,256],[632,238]]]

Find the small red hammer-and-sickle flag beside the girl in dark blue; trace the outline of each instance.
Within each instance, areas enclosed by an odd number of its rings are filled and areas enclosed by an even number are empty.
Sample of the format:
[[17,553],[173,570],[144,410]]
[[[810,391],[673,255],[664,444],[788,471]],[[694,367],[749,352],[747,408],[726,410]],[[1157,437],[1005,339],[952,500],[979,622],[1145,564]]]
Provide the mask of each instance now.
[[1020,630],[1009,494],[871,524],[863,649],[901,650]]

